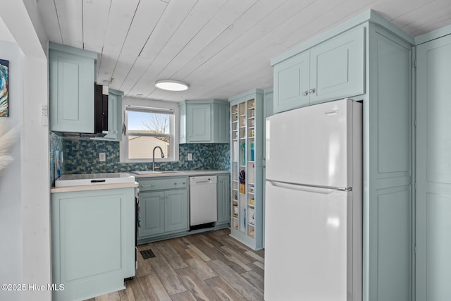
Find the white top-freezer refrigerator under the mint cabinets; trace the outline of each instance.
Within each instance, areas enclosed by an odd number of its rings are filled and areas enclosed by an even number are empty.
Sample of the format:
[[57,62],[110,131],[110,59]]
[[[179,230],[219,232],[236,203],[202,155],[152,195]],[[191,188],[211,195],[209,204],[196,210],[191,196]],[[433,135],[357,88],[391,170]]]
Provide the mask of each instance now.
[[266,118],[266,301],[362,300],[362,104]]

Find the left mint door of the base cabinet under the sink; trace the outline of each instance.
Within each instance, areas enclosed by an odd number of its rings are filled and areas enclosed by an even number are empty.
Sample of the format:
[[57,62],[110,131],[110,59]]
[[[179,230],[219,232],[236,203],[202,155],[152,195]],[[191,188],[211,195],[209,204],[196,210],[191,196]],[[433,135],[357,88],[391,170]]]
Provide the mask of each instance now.
[[138,238],[146,238],[164,232],[164,192],[140,193],[141,227]]

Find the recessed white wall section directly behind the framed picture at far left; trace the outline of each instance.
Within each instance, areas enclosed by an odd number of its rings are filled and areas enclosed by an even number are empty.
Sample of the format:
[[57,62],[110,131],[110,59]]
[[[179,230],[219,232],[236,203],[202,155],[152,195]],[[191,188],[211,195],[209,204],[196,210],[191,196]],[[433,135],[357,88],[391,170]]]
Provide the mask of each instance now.
[[[9,117],[2,119],[7,121],[9,128],[18,127],[20,130],[23,55],[16,43],[0,41],[0,59],[9,61]],[[0,283],[22,282],[19,136],[11,155],[14,157],[13,163],[0,173]],[[0,290],[0,300],[20,300],[20,295]]]

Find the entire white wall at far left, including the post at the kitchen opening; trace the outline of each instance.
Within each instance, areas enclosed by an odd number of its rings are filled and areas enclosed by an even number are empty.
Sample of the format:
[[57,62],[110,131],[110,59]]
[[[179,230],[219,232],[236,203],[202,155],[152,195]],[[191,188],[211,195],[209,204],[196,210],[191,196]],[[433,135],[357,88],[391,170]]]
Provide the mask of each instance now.
[[[23,1],[0,0],[0,18],[16,41],[9,48],[0,42],[0,58],[11,55],[8,121],[20,130],[16,161],[0,178],[0,283],[47,287],[51,283],[49,128],[40,125],[40,106],[48,104],[47,57],[42,47],[47,37],[42,36],[35,1],[26,2],[27,8]],[[47,290],[8,295],[0,290],[0,300],[50,299]]]

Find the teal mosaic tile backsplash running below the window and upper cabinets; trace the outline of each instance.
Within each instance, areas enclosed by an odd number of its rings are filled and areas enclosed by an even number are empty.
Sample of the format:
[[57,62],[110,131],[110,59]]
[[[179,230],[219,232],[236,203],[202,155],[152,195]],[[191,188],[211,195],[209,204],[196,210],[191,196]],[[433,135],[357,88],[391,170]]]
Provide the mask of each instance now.
[[[58,137],[58,136],[56,136]],[[58,137],[61,139],[61,137]],[[59,147],[59,142],[55,143]],[[64,173],[117,173],[152,169],[152,163],[121,164],[119,143],[99,140],[62,140]],[[106,161],[99,161],[99,152],[106,153]],[[187,161],[192,153],[193,160]],[[228,144],[179,145],[180,161],[156,163],[162,171],[190,169],[230,169]],[[51,160],[53,161],[53,160]],[[51,181],[53,183],[53,181]]]

